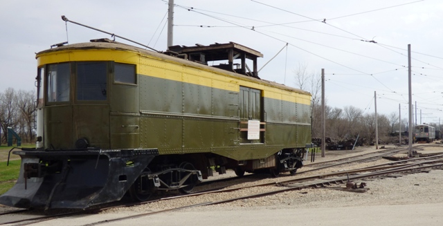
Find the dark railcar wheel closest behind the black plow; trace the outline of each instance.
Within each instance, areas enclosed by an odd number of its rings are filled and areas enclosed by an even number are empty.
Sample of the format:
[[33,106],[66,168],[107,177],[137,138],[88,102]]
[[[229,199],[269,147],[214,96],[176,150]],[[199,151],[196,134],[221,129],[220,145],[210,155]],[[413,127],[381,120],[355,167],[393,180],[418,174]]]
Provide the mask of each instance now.
[[[150,169],[146,168],[143,174],[151,173]],[[145,202],[150,199],[152,192],[154,191],[154,183],[147,179],[147,176],[139,176],[134,184],[129,188],[129,195],[132,200]]]

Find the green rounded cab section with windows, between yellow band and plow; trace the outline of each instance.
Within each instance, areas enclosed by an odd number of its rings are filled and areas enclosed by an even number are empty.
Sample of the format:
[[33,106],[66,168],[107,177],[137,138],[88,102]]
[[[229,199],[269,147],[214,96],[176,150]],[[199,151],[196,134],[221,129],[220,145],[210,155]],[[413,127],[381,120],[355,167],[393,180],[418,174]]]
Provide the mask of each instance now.
[[[135,65],[108,61],[44,64],[38,69],[37,89],[37,148],[139,147]],[[126,135],[122,138],[121,134]]]

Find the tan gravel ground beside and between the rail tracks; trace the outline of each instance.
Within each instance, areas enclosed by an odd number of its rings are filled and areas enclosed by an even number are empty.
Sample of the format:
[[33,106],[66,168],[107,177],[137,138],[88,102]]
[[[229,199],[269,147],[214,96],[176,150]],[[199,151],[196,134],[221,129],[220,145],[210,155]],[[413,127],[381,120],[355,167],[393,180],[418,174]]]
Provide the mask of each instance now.
[[[327,158],[317,157],[317,160],[320,162],[375,151],[373,147],[360,149],[343,152],[343,154],[337,151],[334,154],[329,154]],[[420,149],[419,152],[443,152],[443,147]],[[401,156],[401,154],[397,156]],[[307,164],[300,169],[299,177],[344,171],[386,162],[390,161],[377,160],[354,166],[343,165],[323,171],[301,173],[303,170],[309,169],[309,164]],[[281,179],[266,178],[249,182],[246,182],[245,179],[242,186]],[[355,182],[365,182],[368,191],[356,193],[327,188],[302,189],[261,198],[237,200],[232,203],[192,207],[131,220],[109,222],[105,225],[345,225],[348,223],[356,225],[443,225],[443,196],[440,195],[443,185],[443,171],[440,169],[397,178],[377,178]],[[236,186],[238,185],[231,187]],[[345,187],[345,185],[334,185],[334,187]],[[235,198],[274,189],[278,189],[278,187],[254,187],[224,194],[164,200],[137,207],[111,209],[100,214],[48,220],[35,225],[87,225],[100,220]]]

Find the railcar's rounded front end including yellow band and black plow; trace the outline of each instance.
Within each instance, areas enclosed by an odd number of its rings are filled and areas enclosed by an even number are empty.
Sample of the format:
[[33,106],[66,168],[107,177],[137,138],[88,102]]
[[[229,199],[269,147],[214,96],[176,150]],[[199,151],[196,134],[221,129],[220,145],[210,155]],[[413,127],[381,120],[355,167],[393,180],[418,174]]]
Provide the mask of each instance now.
[[135,64],[79,45],[37,53],[37,148],[13,152],[20,176],[3,205],[83,209],[120,200],[159,154],[138,145]]

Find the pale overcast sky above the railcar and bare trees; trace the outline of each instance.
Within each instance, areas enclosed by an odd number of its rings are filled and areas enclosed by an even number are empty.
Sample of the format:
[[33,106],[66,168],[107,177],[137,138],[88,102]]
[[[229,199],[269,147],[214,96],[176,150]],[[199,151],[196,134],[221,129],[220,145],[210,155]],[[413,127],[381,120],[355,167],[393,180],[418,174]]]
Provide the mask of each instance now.
[[[234,41],[260,51],[262,79],[296,87],[294,71],[325,68],[329,106],[408,117],[408,44],[412,50],[417,123],[443,120],[441,0],[175,0],[174,44]],[[192,7],[192,8],[191,8]],[[33,90],[35,53],[109,35],[60,18],[165,50],[166,1],[0,0],[0,92]],[[325,22],[323,22],[325,20]],[[122,39],[116,41],[125,42]],[[443,123],[443,122],[442,122]]]

